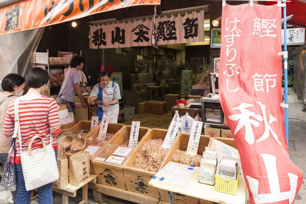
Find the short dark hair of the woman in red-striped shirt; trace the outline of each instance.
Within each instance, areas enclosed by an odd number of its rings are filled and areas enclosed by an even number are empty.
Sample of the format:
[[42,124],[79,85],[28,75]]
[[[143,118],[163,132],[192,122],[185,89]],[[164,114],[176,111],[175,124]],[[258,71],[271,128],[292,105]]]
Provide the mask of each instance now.
[[48,72],[39,67],[31,69],[25,76],[25,84],[27,84],[29,88],[38,89],[47,84],[48,81]]

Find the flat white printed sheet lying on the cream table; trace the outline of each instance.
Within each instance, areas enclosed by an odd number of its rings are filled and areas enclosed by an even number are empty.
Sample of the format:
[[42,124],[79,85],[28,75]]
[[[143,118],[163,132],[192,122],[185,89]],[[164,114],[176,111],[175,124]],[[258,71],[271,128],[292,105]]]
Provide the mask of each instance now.
[[197,167],[194,165],[169,162],[152,179],[184,187],[190,181],[196,170]]

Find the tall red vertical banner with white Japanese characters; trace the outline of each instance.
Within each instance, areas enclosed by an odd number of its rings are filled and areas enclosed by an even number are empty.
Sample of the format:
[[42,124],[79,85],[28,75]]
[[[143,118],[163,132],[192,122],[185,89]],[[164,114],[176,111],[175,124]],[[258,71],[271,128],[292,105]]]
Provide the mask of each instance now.
[[293,203],[303,172],[289,158],[282,103],[281,7],[222,10],[219,97],[251,203]]

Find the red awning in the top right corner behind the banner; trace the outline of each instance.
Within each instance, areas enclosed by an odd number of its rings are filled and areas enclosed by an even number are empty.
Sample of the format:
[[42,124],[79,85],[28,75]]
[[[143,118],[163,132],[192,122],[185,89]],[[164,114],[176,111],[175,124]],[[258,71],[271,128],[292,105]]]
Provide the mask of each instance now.
[[[295,27],[306,29],[306,0],[290,0],[287,2],[287,16],[293,14],[293,17],[287,21],[288,24]],[[266,2],[267,5],[273,5],[275,2]],[[283,9],[282,9],[283,11]],[[283,12],[282,12],[282,17]]]

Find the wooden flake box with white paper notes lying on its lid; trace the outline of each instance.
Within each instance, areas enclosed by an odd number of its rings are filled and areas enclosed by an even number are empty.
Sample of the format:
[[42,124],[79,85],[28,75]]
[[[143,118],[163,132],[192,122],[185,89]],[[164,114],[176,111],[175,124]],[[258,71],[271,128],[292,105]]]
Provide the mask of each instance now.
[[[131,125],[124,126],[123,131],[120,131],[113,137],[108,142],[108,145],[101,148],[92,159],[93,169],[95,175],[97,175],[98,184],[126,190],[122,165],[134,151],[134,148],[132,148],[132,150],[127,148],[129,146],[130,133]],[[149,133],[149,128],[139,127],[138,144],[142,138],[146,137]],[[115,147],[116,149],[114,149]],[[117,150],[116,154],[108,154],[108,152],[113,153],[113,150]],[[114,156],[114,159],[108,162],[107,160],[111,156]]]

